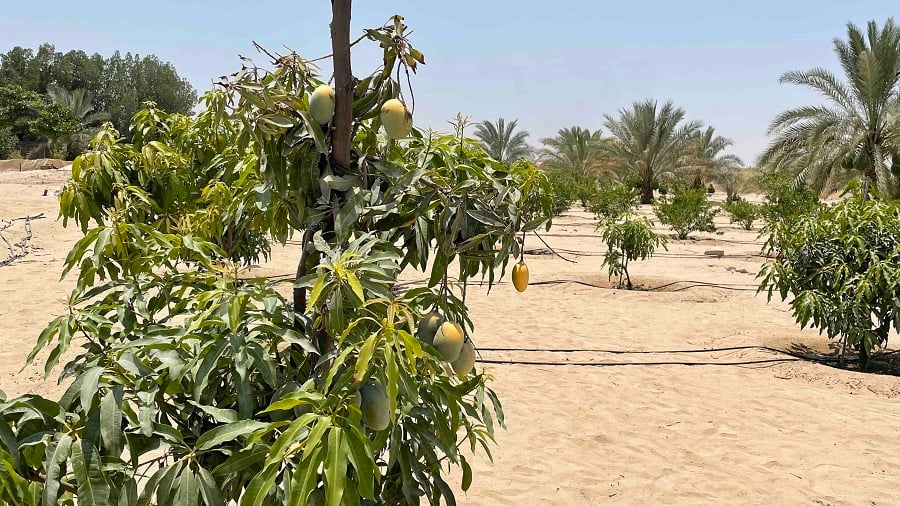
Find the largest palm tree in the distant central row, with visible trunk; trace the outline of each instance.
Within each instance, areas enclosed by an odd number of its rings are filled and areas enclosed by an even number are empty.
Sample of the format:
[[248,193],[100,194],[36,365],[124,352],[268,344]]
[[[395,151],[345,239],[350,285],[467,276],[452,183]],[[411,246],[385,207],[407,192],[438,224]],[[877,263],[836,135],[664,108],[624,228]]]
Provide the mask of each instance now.
[[682,123],[684,109],[671,101],[658,107],[655,100],[635,102],[620,109],[619,117],[604,115],[614,138],[609,154],[641,184],[641,203],[653,200],[653,184],[665,172],[686,165],[685,157],[701,123]]

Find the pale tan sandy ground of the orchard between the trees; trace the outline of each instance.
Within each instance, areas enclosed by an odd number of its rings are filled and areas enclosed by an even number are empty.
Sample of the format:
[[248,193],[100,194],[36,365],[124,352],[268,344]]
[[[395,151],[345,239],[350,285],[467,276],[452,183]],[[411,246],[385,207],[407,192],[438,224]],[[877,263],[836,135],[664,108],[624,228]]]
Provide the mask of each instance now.
[[[64,178],[0,174],[0,220],[47,216],[33,222],[31,254],[0,268],[7,394],[60,389],[39,368],[20,369],[71,288],[59,272],[80,233],[63,229],[56,200],[41,196]],[[663,288],[628,292],[609,288],[591,216],[573,212],[543,237],[577,263],[527,255],[538,284],[526,292],[470,289],[481,359],[539,364],[480,365],[496,376],[508,430],[493,463],[475,457],[461,504],[900,504],[900,378],[766,362],[791,357],[756,347],[831,349],[799,330],[785,304],[755,295],[756,232],[719,225],[721,235],[670,240],[634,264],[638,284]],[[527,246],[545,248],[534,237]],[[712,249],[725,256],[704,255]],[[265,271],[291,272],[296,258],[279,249]],[[730,347],[747,348],[685,352]],[[540,351],[550,349],[590,351]]]

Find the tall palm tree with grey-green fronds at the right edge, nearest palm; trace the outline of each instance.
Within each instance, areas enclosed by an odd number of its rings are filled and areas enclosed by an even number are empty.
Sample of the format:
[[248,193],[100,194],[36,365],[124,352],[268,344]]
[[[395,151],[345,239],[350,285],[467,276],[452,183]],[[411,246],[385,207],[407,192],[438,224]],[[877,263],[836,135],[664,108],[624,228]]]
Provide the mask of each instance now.
[[805,106],[779,114],[769,127],[775,135],[760,155],[760,164],[793,170],[797,182],[822,190],[847,171],[895,193],[900,171],[900,123],[891,121],[898,107],[894,87],[900,82],[900,29],[889,18],[879,30],[869,21],[865,33],[847,25],[847,41],[834,39],[834,51],[846,82],[814,68],[788,72],[782,83],[810,87],[828,99],[826,105]]

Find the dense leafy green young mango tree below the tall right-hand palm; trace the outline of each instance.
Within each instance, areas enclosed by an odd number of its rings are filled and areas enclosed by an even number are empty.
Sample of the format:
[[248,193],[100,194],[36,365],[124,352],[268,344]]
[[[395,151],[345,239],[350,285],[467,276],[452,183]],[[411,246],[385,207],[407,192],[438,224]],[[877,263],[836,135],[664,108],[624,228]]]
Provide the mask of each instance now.
[[858,350],[861,366],[900,326],[900,206],[859,196],[772,229],[760,290],[791,297],[801,327]]

